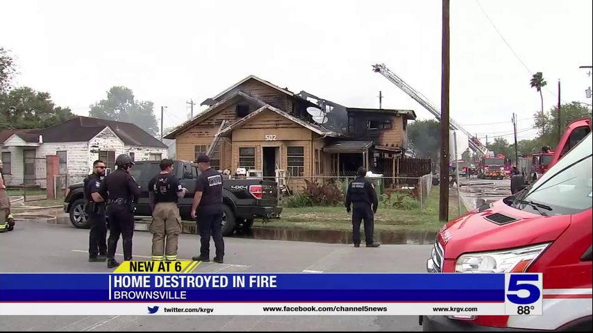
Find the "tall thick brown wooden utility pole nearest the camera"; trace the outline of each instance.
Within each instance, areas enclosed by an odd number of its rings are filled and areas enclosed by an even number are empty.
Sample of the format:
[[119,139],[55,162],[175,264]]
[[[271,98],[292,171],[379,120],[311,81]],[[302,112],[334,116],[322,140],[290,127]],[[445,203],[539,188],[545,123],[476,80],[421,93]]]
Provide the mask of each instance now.
[[449,220],[449,0],[442,0],[441,182],[439,220]]

